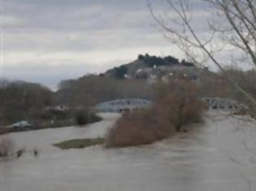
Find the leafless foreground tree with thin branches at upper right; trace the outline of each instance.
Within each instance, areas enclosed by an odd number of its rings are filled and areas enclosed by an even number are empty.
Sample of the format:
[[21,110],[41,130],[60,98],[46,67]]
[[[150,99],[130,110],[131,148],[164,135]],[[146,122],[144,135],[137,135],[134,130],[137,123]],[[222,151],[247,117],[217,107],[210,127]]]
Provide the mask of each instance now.
[[[219,55],[228,55],[229,62],[247,62],[256,68],[256,1],[164,0],[164,2],[170,8],[169,15],[157,15],[150,0],[148,5],[154,20],[167,32],[167,38],[184,52],[189,61],[203,67],[210,62],[217,66],[228,82],[241,91],[255,107],[255,98],[230,78],[224,67],[227,61],[223,62]],[[201,17],[195,19],[195,9],[198,6],[204,12],[203,16],[201,12]],[[198,19],[201,26],[204,28],[207,26],[204,34],[197,32]]]

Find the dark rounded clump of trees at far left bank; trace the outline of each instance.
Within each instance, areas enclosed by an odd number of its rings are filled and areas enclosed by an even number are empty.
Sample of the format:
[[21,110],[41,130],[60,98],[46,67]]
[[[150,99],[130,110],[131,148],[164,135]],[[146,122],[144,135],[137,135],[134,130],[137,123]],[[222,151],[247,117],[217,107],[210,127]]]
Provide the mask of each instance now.
[[37,83],[5,80],[0,95],[1,124],[35,118],[43,108],[54,104],[54,93]]

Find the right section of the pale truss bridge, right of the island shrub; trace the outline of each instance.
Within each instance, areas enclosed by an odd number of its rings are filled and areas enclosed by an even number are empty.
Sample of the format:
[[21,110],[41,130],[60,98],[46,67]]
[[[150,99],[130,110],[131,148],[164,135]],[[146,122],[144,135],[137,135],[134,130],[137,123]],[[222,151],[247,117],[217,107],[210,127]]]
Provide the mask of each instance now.
[[241,109],[248,109],[245,104],[240,104],[236,100],[220,97],[203,97],[202,101],[205,102],[210,109],[223,111],[239,111]]

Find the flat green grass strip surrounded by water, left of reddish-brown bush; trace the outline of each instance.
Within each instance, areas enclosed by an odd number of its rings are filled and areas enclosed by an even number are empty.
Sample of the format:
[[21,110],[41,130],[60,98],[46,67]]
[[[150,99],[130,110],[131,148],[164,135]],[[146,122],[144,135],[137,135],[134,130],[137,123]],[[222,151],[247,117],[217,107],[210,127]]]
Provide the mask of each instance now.
[[59,142],[53,144],[62,150],[67,149],[80,149],[88,146],[101,145],[105,142],[104,138],[82,138],[82,139],[72,139],[64,142]]

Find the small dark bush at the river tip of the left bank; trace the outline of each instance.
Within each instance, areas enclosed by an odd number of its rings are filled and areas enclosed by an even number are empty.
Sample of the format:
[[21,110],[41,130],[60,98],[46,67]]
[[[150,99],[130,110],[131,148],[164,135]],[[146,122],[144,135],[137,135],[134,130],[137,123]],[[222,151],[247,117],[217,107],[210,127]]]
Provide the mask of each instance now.
[[75,113],[77,125],[87,125],[89,123],[101,121],[102,117],[98,117],[94,112],[86,109],[80,109]]

